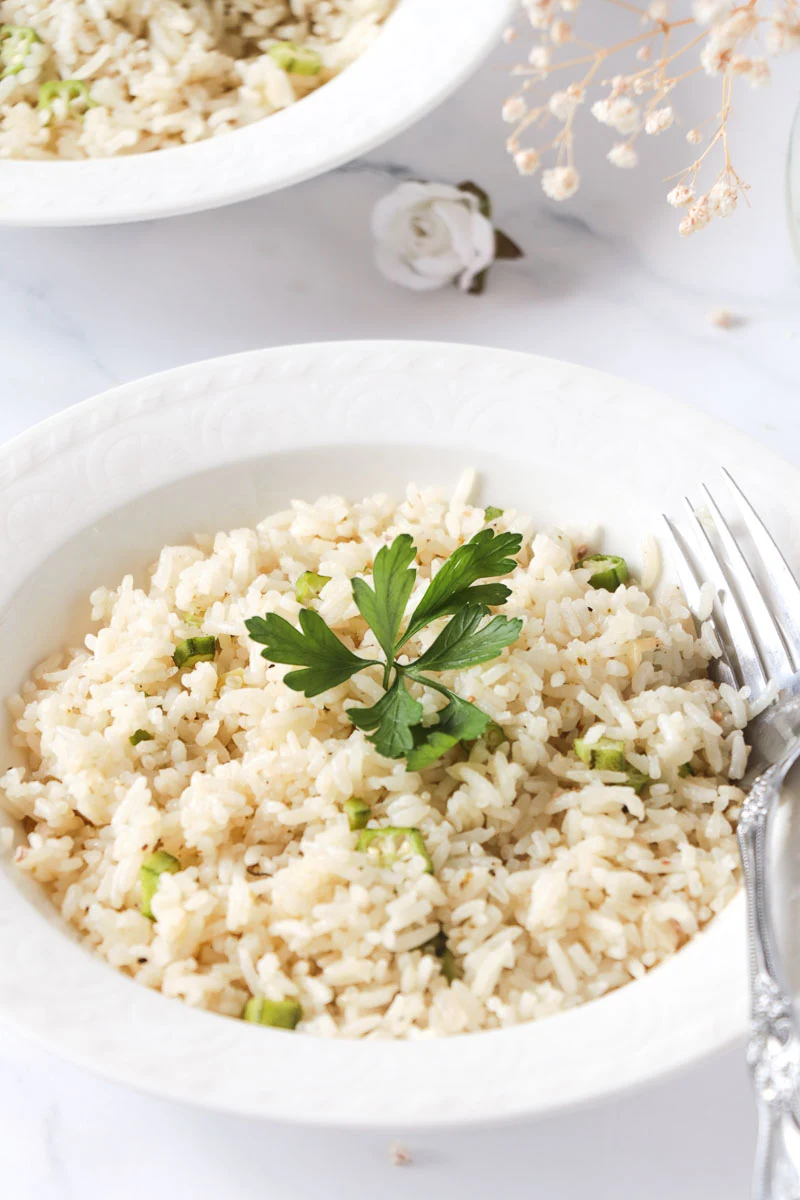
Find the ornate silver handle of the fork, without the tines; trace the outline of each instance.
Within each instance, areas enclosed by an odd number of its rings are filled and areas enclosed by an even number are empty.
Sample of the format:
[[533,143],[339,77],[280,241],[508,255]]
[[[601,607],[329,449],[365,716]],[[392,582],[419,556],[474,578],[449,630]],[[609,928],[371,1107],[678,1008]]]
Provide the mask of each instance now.
[[747,1063],[758,1106],[753,1200],[800,1200],[800,1040],[778,967],[766,888],[770,818],[799,754],[800,742],[794,742],[781,762],[757,778],[739,818],[752,1001]]

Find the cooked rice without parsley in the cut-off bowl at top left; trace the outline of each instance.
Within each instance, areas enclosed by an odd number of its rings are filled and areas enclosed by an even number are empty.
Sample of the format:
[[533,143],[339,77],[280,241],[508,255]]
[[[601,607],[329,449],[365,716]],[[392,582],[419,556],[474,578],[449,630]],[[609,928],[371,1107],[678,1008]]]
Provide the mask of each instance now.
[[[23,37],[13,62],[19,36],[0,40],[0,158],[140,154],[249,125],[349,66],[393,4],[0,0],[0,25],[38,37]],[[321,70],[287,73],[269,53],[284,41],[315,52]],[[38,108],[41,85],[56,79],[84,83],[96,107]]]

